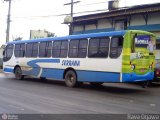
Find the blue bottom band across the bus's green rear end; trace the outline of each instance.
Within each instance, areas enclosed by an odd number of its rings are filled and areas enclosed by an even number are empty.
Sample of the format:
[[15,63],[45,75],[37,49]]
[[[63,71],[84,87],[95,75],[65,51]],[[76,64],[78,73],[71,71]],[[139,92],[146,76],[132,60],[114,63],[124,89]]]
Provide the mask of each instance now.
[[154,72],[147,72],[144,75],[137,75],[135,73],[123,73],[122,74],[122,82],[138,82],[138,81],[146,81],[153,80]]

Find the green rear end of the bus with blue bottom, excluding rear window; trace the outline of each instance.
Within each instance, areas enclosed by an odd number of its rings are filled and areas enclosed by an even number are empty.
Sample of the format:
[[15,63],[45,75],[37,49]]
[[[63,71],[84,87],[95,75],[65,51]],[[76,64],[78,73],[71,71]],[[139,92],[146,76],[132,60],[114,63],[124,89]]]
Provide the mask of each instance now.
[[[148,54],[148,51],[142,48],[139,48],[136,53],[132,53],[132,39],[135,34],[144,36],[150,35],[155,39],[153,34],[150,34],[145,31],[128,31],[125,34],[126,41],[124,42],[123,48],[123,62],[122,62],[122,81],[123,82],[136,82],[136,81],[145,81],[145,80],[153,80],[154,77],[154,69],[150,70],[149,67],[154,66],[154,55]],[[135,48],[136,49],[136,48]],[[143,57],[138,57],[138,52],[143,54]],[[146,55],[147,54],[147,55]],[[134,56],[134,57],[132,57]],[[135,57],[136,56],[136,57]],[[147,56],[147,57],[146,57]],[[134,70],[131,69],[131,65],[134,65]]]

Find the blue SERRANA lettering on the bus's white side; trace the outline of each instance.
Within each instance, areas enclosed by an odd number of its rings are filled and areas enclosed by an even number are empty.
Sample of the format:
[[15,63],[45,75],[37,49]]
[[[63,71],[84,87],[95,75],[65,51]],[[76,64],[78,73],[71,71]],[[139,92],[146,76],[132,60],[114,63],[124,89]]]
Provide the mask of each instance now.
[[62,66],[80,66],[79,60],[63,60]]

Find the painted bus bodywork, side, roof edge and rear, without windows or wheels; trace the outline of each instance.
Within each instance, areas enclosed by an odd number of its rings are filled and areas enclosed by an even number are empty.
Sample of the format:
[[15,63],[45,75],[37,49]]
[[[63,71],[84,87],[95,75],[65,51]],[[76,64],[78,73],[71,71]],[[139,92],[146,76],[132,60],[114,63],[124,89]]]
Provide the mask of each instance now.
[[[14,72],[15,66],[18,65],[21,67],[23,75],[63,80],[65,70],[73,68],[76,71],[77,80],[82,82],[136,82],[152,80],[154,73],[153,70],[148,70],[148,67],[151,63],[154,64],[153,58],[143,59],[144,62],[142,64],[140,64],[140,61],[142,61],[140,59],[131,61],[131,39],[133,34],[136,33],[153,36],[153,34],[142,31],[121,31],[10,42],[8,44],[80,38],[88,39],[91,37],[111,37],[114,35],[124,36],[122,53],[116,59],[112,59],[109,56],[107,58],[16,58],[13,53],[12,58],[4,62],[3,70],[5,72]],[[137,68],[135,71],[131,70],[131,62],[140,68],[145,68],[146,71],[140,72]]]

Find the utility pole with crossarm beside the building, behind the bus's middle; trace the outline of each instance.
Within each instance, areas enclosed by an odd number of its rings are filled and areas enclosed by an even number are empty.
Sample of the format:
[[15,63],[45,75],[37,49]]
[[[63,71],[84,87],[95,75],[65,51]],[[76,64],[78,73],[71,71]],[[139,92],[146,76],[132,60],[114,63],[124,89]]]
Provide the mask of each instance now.
[[[71,13],[70,13],[70,16],[73,18],[73,5],[75,4],[75,3],[79,3],[80,1],[75,1],[75,2],[73,2],[73,0],[71,0],[71,2],[70,3],[66,3],[66,4],[64,4],[64,5],[71,5]],[[72,28],[72,23],[70,23],[70,25],[69,25],[69,35],[71,35],[73,33],[73,28]]]

